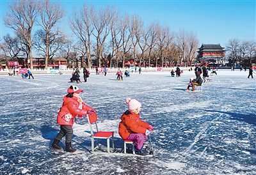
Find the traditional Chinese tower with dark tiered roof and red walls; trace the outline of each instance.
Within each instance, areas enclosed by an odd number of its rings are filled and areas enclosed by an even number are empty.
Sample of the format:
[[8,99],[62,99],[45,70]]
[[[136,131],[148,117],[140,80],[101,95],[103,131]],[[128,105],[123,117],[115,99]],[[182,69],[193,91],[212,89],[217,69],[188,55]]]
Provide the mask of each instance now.
[[197,59],[200,63],[208,62],[218,65],[219,61],[225,57],[224,47],[220,44],[202,44],[197,52]]

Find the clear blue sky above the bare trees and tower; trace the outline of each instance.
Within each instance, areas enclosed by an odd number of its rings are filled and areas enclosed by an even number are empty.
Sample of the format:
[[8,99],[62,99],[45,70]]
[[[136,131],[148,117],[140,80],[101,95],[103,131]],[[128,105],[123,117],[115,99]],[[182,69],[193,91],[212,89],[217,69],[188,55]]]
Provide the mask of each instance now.
[[[8,3],[1,1],[1,38],[12,30],[4,26],[3,17],[8,11]],[[256,40],[256,3],[253,1],[60,1],[65,9],[65,19],[60,27],[72,34],[68,20],[74,8],[84,3],[95,8],[115,6],[121,13],[137,14],[145,22],[157,21],[170,26],[172,31],[194,31],[200,43],[220,43],[228,40]]]

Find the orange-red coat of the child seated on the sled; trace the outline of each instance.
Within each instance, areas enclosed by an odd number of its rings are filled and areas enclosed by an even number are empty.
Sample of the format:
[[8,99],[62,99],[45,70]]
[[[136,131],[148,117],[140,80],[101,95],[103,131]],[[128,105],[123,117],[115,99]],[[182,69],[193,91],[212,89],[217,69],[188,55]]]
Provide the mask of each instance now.
[[124,112],[119,123],[118,133],[122,139],[127,139],[130,133],[145,133],[149,124],[141,121],[140,114],[135,114],[130,110]]

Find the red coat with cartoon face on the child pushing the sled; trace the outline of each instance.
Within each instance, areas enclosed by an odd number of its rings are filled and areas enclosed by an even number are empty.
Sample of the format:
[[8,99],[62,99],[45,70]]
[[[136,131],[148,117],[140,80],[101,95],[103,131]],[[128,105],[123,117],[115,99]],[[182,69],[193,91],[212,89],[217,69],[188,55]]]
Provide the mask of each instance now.
[[76,96],[64,96],[62,107],[57,116],[57,122],[60,125],[73,126],[74,118],[78,115],[79,118],[86,116],[88,110],[93,110],[85,103],[82,103],[82,109],[79,109],[79,102]]

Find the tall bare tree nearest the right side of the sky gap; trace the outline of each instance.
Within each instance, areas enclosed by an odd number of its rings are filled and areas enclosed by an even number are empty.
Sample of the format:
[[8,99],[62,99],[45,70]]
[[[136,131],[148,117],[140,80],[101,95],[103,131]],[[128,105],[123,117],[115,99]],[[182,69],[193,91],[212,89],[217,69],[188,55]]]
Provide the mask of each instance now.
[[[95,13],[93,6],[83,5],[81,10],[73,11],[72,19],[70,19],[70,26],[77,38],[83,43],[86,57],[88,59],[88,67],[91,67],[92,56],[92,33],[95,29],[92,23],[92,16]],[[83,66],[83,59],[81,60]]]

